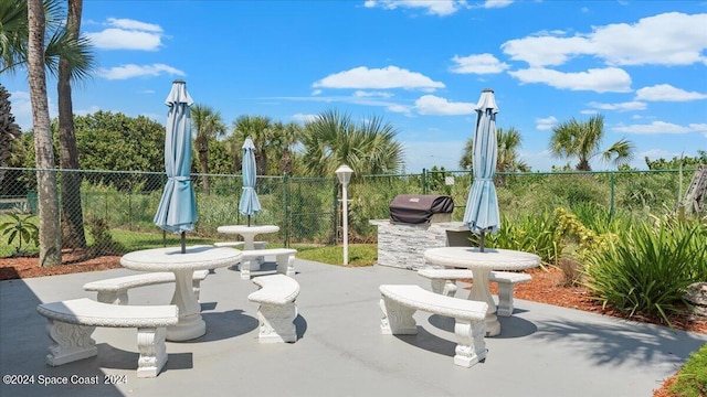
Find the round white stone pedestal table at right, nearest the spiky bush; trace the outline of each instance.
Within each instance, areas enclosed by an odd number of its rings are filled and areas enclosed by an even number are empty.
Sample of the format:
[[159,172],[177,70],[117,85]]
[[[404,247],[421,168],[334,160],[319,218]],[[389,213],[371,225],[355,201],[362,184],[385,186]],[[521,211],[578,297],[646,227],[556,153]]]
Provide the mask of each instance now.
[[474,283],[468,294],[469,300],[488,303],[486,313],[486,335],[500,333],[500,323],[496,318],[496,302],[488,288],[488,276],[492,270],[523,270],[540,265],[540,257],[535,254],[485,248],[483,253],[476,247],[441,247],[424,251],[424,259],[433,265],[453,268],[467,268],[474,275]]

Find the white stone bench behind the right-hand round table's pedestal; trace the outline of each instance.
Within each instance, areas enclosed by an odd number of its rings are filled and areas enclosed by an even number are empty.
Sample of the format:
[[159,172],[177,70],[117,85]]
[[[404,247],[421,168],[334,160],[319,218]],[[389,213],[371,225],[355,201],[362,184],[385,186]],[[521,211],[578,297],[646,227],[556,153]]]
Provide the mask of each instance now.
[[[456,280],[472,280],[474,278],[472,270],[466,269],[425,268],[418,270],[418,275],[431,280],[432,291],[447,297],[454,297],[454,293],[456,293]],[[498,283],[498,308],[496,309],[496,314],[502,316],[510,316],[513,314],[514,286],[530,281],[530,275],[521,272],[492,271],[489,273],[488,280]]]

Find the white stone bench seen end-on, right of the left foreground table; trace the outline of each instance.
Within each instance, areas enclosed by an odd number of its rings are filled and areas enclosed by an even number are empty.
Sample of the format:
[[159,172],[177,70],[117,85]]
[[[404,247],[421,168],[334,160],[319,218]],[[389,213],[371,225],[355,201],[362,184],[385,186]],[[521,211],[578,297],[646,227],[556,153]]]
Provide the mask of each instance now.
[[253,282],[260,289],[249,294],[247,300],[260,304],[257,308],[258,342],[296,342],[295,299],[299,294],[299,283],[285,275],[255,277]]

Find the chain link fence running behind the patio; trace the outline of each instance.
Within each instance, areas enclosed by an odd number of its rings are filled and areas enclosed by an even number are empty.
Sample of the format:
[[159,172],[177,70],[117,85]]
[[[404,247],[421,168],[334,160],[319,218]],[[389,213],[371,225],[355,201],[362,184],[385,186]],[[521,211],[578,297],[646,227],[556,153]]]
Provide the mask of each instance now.
[[[35,169],[0,168],[0,258],[18,251],[35,253],[33,242],[11,233],[18,224],[38,224]],[[179,244],[152,223],[165,173],[133,171],[56,172],[62,207],[63,245],[89,247],[98,254],[122,255],[136,249]],[[541,213],[562,206],[605,208],[615,213],[665,213],[685,196],[693,172],[614,171],[499,173],[496,176],[502,215]],[[461,221],[472,183],[469,171],[423,170],[421,174],[355,175],[349,184],[349,242],[376,243],[370,219],[387,219],[389,204],[398,194],[450,195],[455,203],[453,221]],[[245,224],[239,213],[240,174],[192,174],[199,219],[188,233],[188,244],[231,239],[217,228]],[[203,187],[209,186],[208,191]],[[252,224],[279,226],[263,236],[274,245],[334,245],[341,240],[340,185],[336,176],[258,176],[256,192],[262,211]],[[74,224],[67,227],[66,224]],[[71,225],[70,225],[71,226]]]

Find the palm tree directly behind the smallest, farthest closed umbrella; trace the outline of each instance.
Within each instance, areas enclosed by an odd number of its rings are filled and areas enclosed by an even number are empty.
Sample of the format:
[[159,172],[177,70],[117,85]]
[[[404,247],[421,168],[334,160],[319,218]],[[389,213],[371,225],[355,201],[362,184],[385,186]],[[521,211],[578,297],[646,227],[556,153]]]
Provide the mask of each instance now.
[[[263,116],[241,116],[233,121],[233,152],[235,159],[241,159],[241,148],[245,138],[251,137],[255,146],[255,164],[258,175],[267,173],[267,150],[272,147],[272,124],[270,117]],[[235,164],[241,169],[240,160]]]

